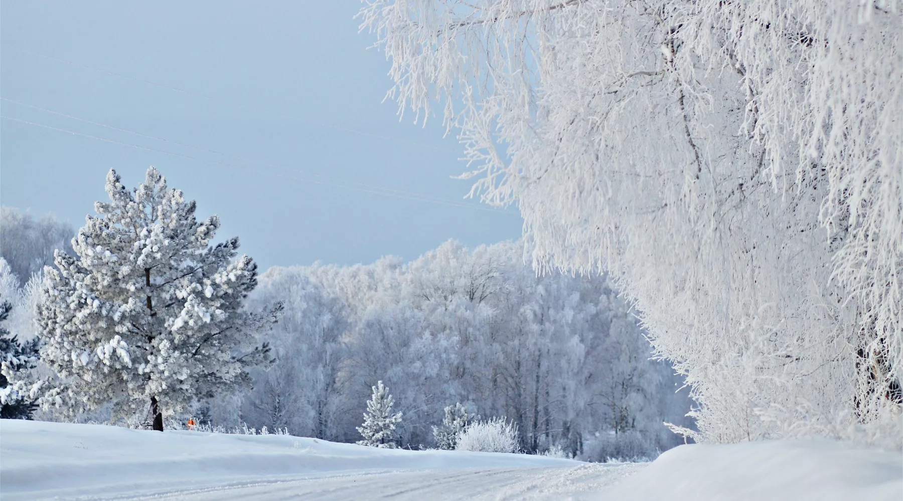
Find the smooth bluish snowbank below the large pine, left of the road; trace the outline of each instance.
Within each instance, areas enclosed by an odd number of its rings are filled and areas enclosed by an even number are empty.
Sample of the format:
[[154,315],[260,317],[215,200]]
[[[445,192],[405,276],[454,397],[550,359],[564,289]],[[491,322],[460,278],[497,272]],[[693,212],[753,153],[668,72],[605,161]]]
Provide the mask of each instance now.
[[286,435],[150,432],[98,424],[0,420],[5,501],[116,496],[282,478],[584,463],[524,454],[402,451]]

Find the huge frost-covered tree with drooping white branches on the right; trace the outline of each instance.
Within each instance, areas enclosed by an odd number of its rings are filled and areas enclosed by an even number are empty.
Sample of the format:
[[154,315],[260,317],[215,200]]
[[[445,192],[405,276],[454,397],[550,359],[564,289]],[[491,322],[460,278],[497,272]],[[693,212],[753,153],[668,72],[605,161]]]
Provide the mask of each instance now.
[[606,271],[697,438],[900,446],[898,0],[367,0],[535,266]]

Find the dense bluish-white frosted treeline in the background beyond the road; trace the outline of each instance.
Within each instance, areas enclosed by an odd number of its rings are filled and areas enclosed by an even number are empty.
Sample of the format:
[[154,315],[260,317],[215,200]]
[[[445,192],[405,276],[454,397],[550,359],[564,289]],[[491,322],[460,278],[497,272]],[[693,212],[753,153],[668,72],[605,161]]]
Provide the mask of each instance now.
[[352,442],[381,380],[403,447],[436,446],[433,426],[457,403],[516,424],[522,451],[604,459],[675,445],[662,422],[684,423],[688,400],[609,280],[537,277],[523,257],[521,243],[449,241],[409,263],[268,269],[248,304],[284,301],[266,338],[277,361],[207,417]]

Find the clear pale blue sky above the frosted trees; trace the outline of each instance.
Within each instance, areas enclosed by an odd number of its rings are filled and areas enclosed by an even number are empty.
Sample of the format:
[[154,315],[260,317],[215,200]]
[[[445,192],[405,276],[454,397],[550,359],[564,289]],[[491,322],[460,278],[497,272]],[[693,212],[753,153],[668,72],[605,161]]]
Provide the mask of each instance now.
[[[154,165],[264,268],[516,239],[516,209],[461,200],[461,147],[439,121],[399,123],[395,103],[381,103],[389,66],[358,34],[358,7],[5,0],[2,114],[109,141],[3,119],[0,202],[78,227],[106,197],[107,169],[134,187]],[[466,206],[372,193],[381,188]]]

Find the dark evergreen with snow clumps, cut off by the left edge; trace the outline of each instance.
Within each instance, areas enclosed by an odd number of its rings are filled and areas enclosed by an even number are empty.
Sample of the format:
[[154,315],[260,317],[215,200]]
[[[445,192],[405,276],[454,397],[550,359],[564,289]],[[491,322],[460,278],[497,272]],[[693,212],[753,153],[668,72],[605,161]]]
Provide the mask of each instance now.
[[15,334],[10,333],[3,323],[9,317],[13,305],[9,301],[0,303],[0,362],[3,373],[0,373],[0,417],[3,419],[31,419],[37,405],[20,388],[10,385],[6,374],[11,376],[17,372],[33,369],[38,358],[38,338],[28,342],[20,342]]

